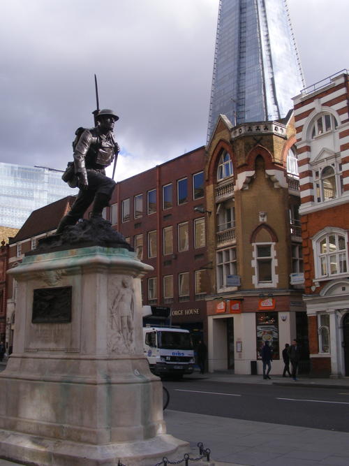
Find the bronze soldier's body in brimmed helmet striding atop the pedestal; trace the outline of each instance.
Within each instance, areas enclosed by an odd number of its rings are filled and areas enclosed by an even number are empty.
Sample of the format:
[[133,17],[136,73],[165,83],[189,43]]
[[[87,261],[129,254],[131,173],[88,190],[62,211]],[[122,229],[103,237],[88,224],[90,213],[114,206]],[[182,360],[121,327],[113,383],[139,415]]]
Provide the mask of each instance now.
[[66,226],[75,225],[92,202],[91,219],[101,218],[104,207],[109,205],[116,183],[105,176],[105,168],[119,152],[119,145],[112,134],[118,119],[113,110],[100,110],[96,116],[96,127],[85,129],[77,141],[74,171],[80,191],[70,212],[59,222],[57,234],[62,233]]

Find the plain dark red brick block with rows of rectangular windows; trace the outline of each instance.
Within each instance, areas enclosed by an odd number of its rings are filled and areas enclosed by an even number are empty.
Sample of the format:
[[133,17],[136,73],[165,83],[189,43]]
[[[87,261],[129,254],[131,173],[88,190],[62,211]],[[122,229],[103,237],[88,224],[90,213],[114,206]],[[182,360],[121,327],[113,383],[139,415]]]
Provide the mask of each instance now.
[[139,259],[143,305],[170,307],[172,324],[207,333],[205,147],[118,182],[104,216]]

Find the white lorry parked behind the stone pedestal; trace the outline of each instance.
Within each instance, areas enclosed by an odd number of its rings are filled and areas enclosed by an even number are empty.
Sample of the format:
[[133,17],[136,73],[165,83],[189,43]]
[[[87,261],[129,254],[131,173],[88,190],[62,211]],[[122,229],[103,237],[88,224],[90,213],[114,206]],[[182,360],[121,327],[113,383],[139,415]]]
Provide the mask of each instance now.
[[195,358],[191,334],[173,327],[143,327],[144,356],[154,374],[192,374]]

